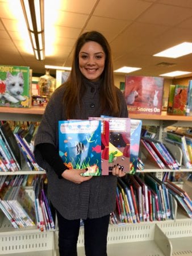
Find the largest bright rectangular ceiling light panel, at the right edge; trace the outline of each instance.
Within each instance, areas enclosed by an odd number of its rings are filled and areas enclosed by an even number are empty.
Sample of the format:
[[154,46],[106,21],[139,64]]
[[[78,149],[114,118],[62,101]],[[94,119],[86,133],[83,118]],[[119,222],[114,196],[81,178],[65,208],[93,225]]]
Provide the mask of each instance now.
[[178,58],[187,54],[192,53],[192,43],[184,42],[166,49],[165,51],[158,52],[153,56],[157,57],[168,57],[168,58]]

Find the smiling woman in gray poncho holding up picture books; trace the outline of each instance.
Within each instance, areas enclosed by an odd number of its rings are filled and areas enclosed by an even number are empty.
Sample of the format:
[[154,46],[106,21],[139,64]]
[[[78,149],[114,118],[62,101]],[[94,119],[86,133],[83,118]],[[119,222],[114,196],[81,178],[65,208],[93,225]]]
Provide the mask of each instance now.
[[128,116],[124,96],[114,85],[110,46],[102,34],[91,31],[78,38],[70,76],[52,94],[35,139],[36,161],[47,171],[48,197],[57,213],[60,256],[77,255],[81,218],[86,255],[107,255],[116,176],[124,176],[124,172],[115,166],[109,176],[81,176],[85,170],[68,170],[58,150],[59,120],[101,114]]

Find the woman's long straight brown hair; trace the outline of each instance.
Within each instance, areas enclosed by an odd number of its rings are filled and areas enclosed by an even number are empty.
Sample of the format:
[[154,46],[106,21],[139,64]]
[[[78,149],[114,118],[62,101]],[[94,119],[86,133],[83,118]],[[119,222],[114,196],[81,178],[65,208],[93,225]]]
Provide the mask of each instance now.
[[81,108],[81,98],[84,93],[82,83],[82,73],[79,69],[78,55],[82,46],[86,42],[94,41],[100,44],[106,55],[105,69],[102,73],[101,85],[101,110],[109,110],[111,115],[117,116],[119,114],[119,98],[117,95],[117,88],[114,85],[114,75],[112,67],[111,48],[105,37],[97,32],[86,32],[77,40],[76,48],[74,50],[72,71],[70,72],[68,80],[65,82],[65,93],[63,97],[65,117],[73,118],[74,106],[78,105]]

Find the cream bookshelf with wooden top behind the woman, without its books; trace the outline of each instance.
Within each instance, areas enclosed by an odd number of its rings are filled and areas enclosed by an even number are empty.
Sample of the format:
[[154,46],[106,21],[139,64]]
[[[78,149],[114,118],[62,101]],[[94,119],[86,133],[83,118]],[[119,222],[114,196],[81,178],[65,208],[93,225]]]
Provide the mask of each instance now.
[[[32,107],[30,109],[0,108],[1,120],[14,121],[40,121],[44,113],[43,107]],[[163,129],[166,126],[190,126],[192,117],[168,115],[130,114],[130,118],[141,119],[143,125],[159,127],[159,138],[162,138]],[[150,163],[147,164],[146,172],[162,173],[162,170]],[[171,170],[163,170],[171,171]],[[183,171],[186,171],[183,169]],[[192,171],[192,170],[187,170]],[[0,175],[23,175],[44,174],[43,171],[0,172]],[[192,187],[186,181],[183,189],[187,189],[192,196]],[[176,209],[177,210],[177,209]],[[4,220],[3,220],[4,219]],[[35,228],[13,229],[9,221],[3,218],[0,212],[0,255],[5,256],[37,256],[37,255],[59,255],[57,247],[58,230],[40,232]],[[3,221],[2,221],[3,220]],[[175,220],[142,222],[139,224],[110,225],[108,229],[108,255],[132,256],[171,256],[192,255],[192,220],[187,218],[183,212],[177,210]],[[84,228],[80,229],[78,238],[78,255],[84,253]]]

